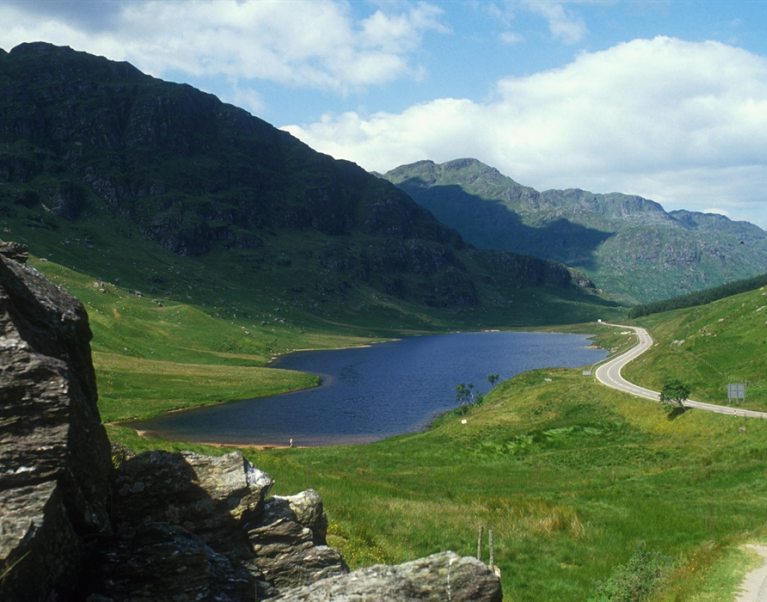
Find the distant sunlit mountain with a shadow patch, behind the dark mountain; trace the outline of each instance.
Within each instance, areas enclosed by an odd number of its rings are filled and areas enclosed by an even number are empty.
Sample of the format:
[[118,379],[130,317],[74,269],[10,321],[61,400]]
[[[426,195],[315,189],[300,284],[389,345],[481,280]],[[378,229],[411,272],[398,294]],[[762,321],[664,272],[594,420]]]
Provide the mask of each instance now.
[[625,194],[538,192],[475,159],[420,161],[384,177],[470,243],[560,261],[615,298],[648,302],[767,271],[767,233],[666,212]]

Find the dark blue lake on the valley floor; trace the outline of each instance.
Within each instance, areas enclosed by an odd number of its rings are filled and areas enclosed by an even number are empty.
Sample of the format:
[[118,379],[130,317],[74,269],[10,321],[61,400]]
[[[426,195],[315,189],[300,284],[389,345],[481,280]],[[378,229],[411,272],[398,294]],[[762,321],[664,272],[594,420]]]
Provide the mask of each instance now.
[[373,441],[423,429],[457,405],[455,388],[485,392],[534,368],[605,357],[583,335],[475,332],[413,337],[372,347],[295,353],[275,367],[322,376],[314,389],[169,414],[136,425],[166,439],[257,445]]

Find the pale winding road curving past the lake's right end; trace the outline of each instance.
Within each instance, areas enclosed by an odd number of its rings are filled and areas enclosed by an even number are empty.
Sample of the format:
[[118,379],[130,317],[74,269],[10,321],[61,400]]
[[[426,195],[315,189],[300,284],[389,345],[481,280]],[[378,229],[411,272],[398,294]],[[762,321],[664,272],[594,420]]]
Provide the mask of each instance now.
[[[657,391],[651,391],[645,389],[639,385],[635,385],[623,378],[621,371],[623,367],[630,361],[635,360],[650,347],[652,347],[653,340],[650,333],[646,329],[638,326],[624,326],[623,324],[610,324],[608,322],[600,322],[605,326],[615,326],[617,328],[623,328],[624,330],[631,330],[637,335],[637,344],[614,358],[609,359],[604,364],[601,364],[596,372],[595,376],[597,380],[603,385],[618,391],[630,393],[637,397],[643,397],[645,399],[651,399],[652,401],[660,401],[660,393]],[[744,410],[742,408],[733,408],[729,406],[719,406],[713,403],[705,403],[703,401],[694,401],[692,399],[686,399],[683,403],[686,408],[695,408],[697,410],[703,410],[705,412],[714,412],[716,414],[727,414],[729,416],[740,416],[743,418],[764,418],[767,419],[767,412],[759,412],[757,410]]]

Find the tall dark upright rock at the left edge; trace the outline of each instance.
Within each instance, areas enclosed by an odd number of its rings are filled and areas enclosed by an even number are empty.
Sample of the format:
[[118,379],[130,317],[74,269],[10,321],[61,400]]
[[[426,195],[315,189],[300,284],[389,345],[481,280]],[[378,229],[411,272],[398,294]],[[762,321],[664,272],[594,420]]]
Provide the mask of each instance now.
[[66,596],[110,530],[90,338],[76,299],[0,255],[0,599]]

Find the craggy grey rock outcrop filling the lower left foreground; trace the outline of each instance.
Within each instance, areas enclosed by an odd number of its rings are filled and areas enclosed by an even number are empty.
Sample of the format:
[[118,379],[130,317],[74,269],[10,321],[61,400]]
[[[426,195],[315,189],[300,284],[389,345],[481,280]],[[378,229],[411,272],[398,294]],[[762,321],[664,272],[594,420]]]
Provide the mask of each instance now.
[[268,497],[239,452],[110,451],[83,306],[3,251],[0,599],[501,600],[452,553],[349,573],[320,496]]

